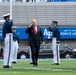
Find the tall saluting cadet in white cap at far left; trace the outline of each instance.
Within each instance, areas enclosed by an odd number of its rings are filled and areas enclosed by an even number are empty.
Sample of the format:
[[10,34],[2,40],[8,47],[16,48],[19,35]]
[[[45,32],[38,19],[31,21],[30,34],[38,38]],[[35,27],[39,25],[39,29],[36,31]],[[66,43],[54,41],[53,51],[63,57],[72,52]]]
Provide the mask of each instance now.
[[3,38],[5,41],[5,50],[4,50],[4,66],[3,68],[10,68],[11,67],[11,57],[12,57],[12,42],[13,42],[13,34],[11,27],[13,26],[13,20],[10,20],[10,14],[3,15],[5,20],[3,24]]

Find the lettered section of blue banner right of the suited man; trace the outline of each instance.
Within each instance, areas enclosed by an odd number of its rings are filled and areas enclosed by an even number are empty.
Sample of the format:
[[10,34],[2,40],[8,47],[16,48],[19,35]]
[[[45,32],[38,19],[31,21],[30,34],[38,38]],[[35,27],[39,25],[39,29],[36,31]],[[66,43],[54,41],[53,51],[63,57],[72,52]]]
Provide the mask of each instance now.
[[[76,28],[59,28],[61,39],[76,39]],[[43,34],[45,39],[52,38],[52,32],[49,32],[47,28],[43,28]]]

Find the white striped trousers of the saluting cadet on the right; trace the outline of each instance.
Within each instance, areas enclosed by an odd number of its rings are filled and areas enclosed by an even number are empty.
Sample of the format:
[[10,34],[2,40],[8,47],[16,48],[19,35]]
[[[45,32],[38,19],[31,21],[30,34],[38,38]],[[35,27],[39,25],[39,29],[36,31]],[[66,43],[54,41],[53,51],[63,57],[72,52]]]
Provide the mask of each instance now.
[[60,44],[57,44],[56,38],[53,38],[52,39],[52,49],[53,49],[54,64],[56,64],[56,63],[60,64],[59,45]]

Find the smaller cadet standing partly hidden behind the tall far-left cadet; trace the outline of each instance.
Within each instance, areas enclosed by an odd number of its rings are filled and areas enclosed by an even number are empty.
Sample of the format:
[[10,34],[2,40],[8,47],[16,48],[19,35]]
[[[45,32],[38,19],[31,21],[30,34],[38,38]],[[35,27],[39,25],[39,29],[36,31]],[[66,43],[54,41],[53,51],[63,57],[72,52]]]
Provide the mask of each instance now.
[[17,62],[17,52],[19,48],[19,36],[16,32],[16,26],[12,26],[12,33],[13,33],[13,52],[12,52],[12,63]]

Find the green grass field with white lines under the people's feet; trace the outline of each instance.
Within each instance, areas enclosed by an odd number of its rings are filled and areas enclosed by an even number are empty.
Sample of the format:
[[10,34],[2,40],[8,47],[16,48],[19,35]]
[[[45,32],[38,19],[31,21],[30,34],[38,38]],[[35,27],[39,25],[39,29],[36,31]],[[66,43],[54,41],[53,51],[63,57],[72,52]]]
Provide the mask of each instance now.
[[0,75],[76,75],[76,60],[61,60],[60,65],[53,65],[53,60],[39,60],[37,67],[29,60],[19,60],[12,68],[3,68],[0,61]]

